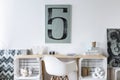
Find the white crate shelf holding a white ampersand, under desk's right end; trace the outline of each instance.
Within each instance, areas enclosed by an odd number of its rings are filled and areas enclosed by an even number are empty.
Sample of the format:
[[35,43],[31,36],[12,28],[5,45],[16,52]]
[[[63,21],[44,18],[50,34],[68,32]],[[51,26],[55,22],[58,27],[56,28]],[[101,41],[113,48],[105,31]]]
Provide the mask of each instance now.
[[107,80],[107,58],[99,55],[79,59],[79,80]]

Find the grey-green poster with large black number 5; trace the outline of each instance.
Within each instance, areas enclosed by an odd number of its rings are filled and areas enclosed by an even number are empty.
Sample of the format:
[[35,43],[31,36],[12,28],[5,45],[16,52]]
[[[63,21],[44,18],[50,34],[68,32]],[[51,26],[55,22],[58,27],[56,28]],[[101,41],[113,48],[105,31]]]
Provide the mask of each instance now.
[[71,5],[45,6],[45,42],[71,42]]

